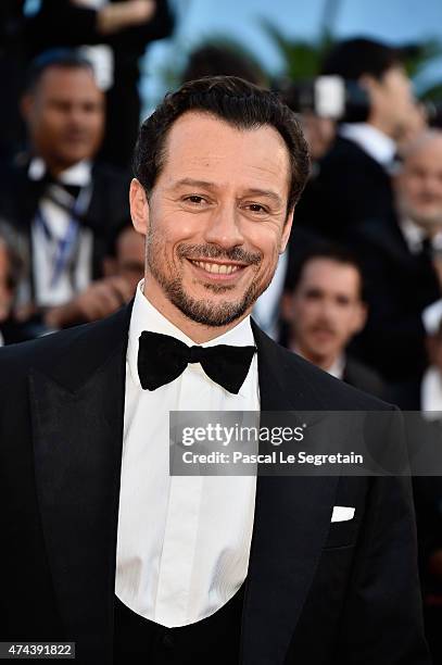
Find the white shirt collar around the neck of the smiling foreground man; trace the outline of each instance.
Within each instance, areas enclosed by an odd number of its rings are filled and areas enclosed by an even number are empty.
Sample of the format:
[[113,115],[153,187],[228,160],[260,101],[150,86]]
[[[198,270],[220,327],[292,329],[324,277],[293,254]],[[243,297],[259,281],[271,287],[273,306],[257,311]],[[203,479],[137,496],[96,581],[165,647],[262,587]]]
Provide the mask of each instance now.
[[[143,330],[150,330],[152,332],[161,332],[162,335],[169,335],[179,339],[188,347],[192,347],[195,342],[190,339],[182,330],[175,326],[168,318],[166,318],[153,304],[146,298],[143,289],[144,280],[141,279],[137,286],[135,294],[134,308],[130,315],[129,326],[129,339],[127,347],[127,360],[129,363],[130,374],[138,387],[141,387],[140,379],[138,376],[138,341]],[[252,326],[250,323],[250,316],[243,318],[238,325],[227,332],[215,337],[202,344],[201,347],[214,347],[216,344],[230,344],[231,347],[247,347],[254,346],[255,340],[253,337]],[[207,380],[209,379],[207,377]]]

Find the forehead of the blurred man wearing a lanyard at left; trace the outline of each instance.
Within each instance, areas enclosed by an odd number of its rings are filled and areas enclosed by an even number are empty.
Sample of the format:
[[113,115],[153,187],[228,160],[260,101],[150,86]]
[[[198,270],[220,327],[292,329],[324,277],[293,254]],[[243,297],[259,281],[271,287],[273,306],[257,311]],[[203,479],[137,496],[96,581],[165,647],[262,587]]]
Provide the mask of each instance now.
[[37,85],[39,97],[87,97],[99,100],[93,75],[83,67],[48,67]]

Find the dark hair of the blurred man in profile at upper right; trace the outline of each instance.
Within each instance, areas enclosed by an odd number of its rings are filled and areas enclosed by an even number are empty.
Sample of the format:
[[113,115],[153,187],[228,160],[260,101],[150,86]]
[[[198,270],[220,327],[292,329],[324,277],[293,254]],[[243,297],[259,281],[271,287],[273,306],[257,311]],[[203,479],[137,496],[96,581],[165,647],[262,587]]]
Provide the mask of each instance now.
[[349,80],[357,80],[364,74],[369,74],[379,80],[388,70],[403,64],[404,58],[405,49],[356,37],[331,48],[324,59],[321,74],[334,74]]

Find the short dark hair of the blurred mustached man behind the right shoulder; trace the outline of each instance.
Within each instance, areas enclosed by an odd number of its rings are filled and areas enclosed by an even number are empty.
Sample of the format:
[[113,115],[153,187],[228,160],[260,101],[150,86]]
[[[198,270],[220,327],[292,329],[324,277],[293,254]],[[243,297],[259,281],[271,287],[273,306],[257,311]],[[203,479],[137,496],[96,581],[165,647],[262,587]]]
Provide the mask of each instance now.
[[341,265],[350,265],[359,275],[359,298],[362,301],[366,301],[366,288],[364,280],[364,272],[359,260],[350,250],[341,247],[340,244],[333,244],[331,242],[320,242],[316,247],[306,250],[296,264],[293,266],[290,277],[286,279],[285,290],[294,293],[299,287],[305,266],[311,261],[317,259],[325,259],[327,261],[333,261]]

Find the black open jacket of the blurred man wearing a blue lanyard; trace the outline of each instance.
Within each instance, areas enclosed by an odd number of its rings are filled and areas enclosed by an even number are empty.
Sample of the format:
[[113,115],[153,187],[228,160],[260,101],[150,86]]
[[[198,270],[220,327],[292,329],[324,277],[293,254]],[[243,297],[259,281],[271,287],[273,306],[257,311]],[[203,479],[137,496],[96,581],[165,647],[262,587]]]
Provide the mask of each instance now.
[[[27,163],[4,166],[0,171],[0,217],[22,235],[30,256],[30,225],[46,184],[45,180],[30,180],[27,172]],[[93,233],[92,277],[97,279],[103,275],[103,259],[110,253],[118,230],[130,224],[129,179],[123,172],[97,162],[92,166],[91,180],[92,195],[81,223]]]

